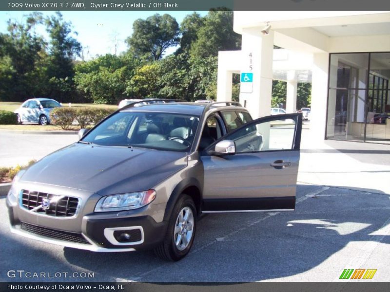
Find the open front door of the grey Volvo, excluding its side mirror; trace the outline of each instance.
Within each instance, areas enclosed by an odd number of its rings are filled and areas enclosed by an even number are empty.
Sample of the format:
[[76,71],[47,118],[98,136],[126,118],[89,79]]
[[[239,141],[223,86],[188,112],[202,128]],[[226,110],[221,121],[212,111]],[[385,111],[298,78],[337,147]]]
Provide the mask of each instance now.
[[[273,115],[242,125],[209,146],[201,156],[202,211],[293,210],[301,130],[301,114]],[[222,140],[234,141],[234,155],[207,154]]]

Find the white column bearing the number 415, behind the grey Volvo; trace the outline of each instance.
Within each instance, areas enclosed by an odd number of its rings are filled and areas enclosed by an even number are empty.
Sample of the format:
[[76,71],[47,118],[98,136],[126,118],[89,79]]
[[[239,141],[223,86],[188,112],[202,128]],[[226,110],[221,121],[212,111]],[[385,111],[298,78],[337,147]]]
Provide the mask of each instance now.
[[264,36],[259,28],[244,29],[242,53],[241,73],[253,73],[253,90],[252,93],[240,93],[240,103],[246,104],[254,119],[268,116],[272,95],[273,31]]

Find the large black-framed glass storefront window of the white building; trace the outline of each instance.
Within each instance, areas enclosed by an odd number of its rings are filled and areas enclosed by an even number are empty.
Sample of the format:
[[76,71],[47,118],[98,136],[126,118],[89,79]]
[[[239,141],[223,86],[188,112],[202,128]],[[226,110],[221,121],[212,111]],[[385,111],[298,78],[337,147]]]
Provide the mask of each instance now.
[[389,59],[390,53],[331,54],[327,138],[390,142]]

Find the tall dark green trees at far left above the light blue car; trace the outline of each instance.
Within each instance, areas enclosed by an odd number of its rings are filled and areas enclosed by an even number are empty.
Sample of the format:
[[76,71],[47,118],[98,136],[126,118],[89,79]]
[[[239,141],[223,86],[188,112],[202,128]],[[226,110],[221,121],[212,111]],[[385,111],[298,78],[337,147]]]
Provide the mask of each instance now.
[[[77,96],[73,83],[74,59],[81,45],[71,37],[71,23],[56,15],[43,18],[34,12],[24,22],[8,20],[8,32],[0,34],[0,99],[24,101],[34,96],[59,101]],[[45,25],[49,41],[37,34]]]

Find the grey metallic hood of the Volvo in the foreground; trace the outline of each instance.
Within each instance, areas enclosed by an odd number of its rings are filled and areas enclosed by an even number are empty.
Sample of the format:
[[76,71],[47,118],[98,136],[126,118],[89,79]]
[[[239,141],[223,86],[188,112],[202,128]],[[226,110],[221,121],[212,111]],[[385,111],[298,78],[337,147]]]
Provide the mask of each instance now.
[[184,152],[75,143],[30,166],[20,182],[105,196],[148,190],[186,165]]

